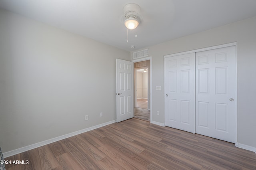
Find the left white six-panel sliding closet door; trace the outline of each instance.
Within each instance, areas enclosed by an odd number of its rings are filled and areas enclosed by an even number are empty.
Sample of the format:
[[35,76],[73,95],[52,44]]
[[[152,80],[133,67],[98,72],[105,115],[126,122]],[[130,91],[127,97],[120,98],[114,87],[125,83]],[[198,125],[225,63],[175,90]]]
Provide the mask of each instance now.
[[195,53],[165,58],[164,123],[195,133]]

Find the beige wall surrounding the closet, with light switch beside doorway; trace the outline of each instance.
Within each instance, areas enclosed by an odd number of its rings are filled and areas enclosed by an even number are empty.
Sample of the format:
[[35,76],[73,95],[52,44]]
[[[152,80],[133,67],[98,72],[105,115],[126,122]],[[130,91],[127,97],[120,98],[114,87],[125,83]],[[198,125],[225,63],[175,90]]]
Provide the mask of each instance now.
[[231,42],[237,42],[238,142],[255,148],[256,17],[147,47],[152,57],[152,121],[164,123],[164,55]]

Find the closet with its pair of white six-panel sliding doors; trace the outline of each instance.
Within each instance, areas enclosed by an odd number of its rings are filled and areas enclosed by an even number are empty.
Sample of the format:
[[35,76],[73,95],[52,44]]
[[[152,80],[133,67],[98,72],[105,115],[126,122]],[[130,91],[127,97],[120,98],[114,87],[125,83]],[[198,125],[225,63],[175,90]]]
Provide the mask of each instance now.
[[236,142],[236,44],[164,56],[164,123]]

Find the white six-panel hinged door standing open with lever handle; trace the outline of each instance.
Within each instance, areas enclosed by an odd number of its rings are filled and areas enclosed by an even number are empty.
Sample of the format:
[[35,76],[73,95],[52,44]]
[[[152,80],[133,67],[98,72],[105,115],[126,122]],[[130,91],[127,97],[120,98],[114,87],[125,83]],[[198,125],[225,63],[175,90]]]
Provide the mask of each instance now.
[[116,122],[134,117],[133,63],[116,59]]

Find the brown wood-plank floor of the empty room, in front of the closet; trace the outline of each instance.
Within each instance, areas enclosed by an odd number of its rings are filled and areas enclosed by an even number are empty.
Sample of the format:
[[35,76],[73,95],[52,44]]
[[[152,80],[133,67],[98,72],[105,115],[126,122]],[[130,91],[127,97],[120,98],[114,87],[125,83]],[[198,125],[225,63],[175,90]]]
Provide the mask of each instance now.
[[255,170],[256,154],[234,144],[129,119],[5,160],[7,170]]

